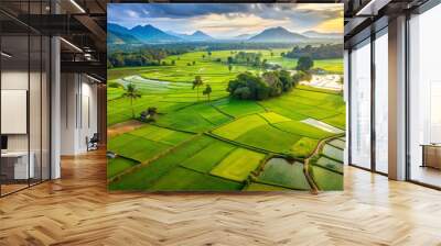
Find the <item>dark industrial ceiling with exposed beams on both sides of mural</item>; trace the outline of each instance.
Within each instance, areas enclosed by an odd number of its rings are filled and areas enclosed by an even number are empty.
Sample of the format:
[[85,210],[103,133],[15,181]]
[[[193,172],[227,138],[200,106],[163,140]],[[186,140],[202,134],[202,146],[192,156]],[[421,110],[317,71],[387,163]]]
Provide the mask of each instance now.
[[[220,0],[237,2],[237,0]],[[364,35],[378,20],[394,18],[427,0],[281,0],[279,2],[336,2],[344,3],[345,45]],[[62,42],[62,69],[96,74],[106,78],[107,3],[148,2],[129,0],[1,0],[0,27],[3,35],[32,34],[60,35]],[[152,2],[152,1],[150,1]],[[157,1],[166,2],[166,1]],[[178,0],[174,2],[207,2],[207,0]],[[240,0],[256,2],[256,0]],[[275,2],[263,0],[259,2]],[[385,21],[387,25],[387,20]],[[12,42],[13,43],[13,42]],[[17,44],[20,44],[17,43]],[[71,45],[73,44],[73,45]],[[79,51],[79,49],[80,51]],[[103,70],[100,72],[97,72]]]

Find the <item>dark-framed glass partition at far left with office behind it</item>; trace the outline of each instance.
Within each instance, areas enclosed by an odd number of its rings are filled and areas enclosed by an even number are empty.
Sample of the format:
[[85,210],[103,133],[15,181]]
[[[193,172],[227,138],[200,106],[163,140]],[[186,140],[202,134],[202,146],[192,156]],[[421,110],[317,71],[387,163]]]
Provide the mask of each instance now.
[[[15,10],[21,18],[46,12],[46,5],[0,2],[0,8]],[[51,43],[11,16],[0,13],[1,197],[50,178]]]

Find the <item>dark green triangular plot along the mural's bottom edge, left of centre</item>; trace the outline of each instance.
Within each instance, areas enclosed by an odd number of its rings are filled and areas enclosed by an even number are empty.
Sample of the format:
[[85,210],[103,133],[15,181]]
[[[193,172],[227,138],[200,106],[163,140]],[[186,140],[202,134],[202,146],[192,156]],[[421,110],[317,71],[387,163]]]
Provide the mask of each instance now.
[[233,191],[240,190],[243,183],[204,175],[178,167],[151,188],[152,191]]

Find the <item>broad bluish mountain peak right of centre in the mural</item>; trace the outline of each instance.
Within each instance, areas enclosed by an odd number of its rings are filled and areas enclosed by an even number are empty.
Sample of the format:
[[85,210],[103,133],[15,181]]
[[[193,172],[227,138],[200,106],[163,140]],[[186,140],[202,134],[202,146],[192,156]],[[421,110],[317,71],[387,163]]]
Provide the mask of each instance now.
[[308,37],[298,33],[292,33],[281,26],[263,30],[263,32],[250,37],[250,42],[268,42],[268,43],[291,43],[306,41]]

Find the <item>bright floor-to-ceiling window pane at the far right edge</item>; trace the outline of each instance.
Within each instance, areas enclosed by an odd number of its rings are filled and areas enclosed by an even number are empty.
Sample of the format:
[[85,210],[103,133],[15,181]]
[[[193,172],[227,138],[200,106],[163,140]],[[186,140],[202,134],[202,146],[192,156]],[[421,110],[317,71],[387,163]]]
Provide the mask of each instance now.
[[441,4],[409,20],[409,178],[441,187]]

